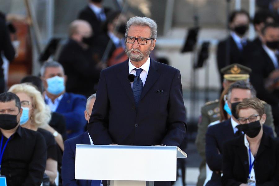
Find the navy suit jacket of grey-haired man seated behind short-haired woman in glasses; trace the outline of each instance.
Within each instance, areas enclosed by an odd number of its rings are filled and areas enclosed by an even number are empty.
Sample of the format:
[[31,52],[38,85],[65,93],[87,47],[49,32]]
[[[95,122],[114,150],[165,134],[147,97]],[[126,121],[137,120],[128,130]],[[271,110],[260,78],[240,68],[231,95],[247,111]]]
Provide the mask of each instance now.
[[[267,135],[274,137],[272,128],[269,126],[263,125],[263,131]],[[221,185],[221,175],[217,175],[215,171],[222,170],[224,142],[233,138],[235,138],[235,135],[232,128],[231,119],[208,127],[206,132],[206,163],[213,171],[213,174],[207,185],[211,185],[211,183],[212,185]]]

